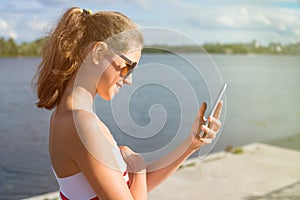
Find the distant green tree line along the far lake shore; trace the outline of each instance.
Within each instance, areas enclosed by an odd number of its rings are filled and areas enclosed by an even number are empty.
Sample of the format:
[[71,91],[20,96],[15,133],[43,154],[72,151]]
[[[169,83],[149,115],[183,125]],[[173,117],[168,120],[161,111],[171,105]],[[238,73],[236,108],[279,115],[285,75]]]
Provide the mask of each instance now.
[[[0,38],[0,57],[38,57],[45,44],[46,38],[40,38],[33,42],[17,44],[14,39]],[[250,43],[221,44],[205,43],[196,45],[152,45],[145,46],[143,53],[215,53],[215,54],[278,54],[278,55],[300,55],[300,42],[282,45],[281,43],[270,43],[262,46],[255,40]]]

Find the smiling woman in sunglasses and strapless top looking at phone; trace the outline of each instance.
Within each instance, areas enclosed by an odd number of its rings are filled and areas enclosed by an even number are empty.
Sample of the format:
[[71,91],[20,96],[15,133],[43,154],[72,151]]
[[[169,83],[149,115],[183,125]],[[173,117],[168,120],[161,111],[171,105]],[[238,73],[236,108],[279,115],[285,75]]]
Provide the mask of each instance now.
[[[203,103],[190,137],[155,163],[128,147],[118,147],[93,111],[98,94],[111,100],[141,56],[143,37],[121,13],[68,9],[47,38],[37,71],[37,106],[55,109],[50,120],[49,152],[62,199],[147,199],[147,193],[220,128],[222,102],[205,123]],[[199,138],[202,129],[206,136]],[[166,161],[166,162],[165,162]],[[161,163],[168,163],[157,167]],[[161,165],[160,165],[161,166]],[[155,169],[155,170],[151,170]]]

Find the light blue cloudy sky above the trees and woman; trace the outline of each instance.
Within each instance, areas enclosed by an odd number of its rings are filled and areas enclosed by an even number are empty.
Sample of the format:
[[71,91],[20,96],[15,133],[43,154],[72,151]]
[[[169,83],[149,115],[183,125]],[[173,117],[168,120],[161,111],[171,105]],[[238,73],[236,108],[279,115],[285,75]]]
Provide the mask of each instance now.
[[0,0],[0,37],[44,37],[72,6],[118,11],[141,28],[174,30],[201,44],[300,42],[300,0]]

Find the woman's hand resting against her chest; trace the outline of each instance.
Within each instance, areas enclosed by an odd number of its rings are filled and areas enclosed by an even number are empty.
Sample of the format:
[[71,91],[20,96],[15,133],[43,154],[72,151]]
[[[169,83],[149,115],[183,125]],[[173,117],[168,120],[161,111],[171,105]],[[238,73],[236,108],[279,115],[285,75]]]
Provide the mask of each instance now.
[[123,159],[127,163],[129,173],[139,173],[146,171],[146,162],[142,156],[135,153],[127,146],[120,146]]

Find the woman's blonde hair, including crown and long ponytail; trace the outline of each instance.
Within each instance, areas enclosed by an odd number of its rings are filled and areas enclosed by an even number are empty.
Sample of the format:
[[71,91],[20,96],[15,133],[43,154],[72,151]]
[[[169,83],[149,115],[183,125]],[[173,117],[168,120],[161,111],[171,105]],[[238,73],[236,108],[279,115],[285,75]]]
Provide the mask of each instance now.
[[[124,31],[131,34],[114,37]],[[57,106],[68,80],[87,55],[87,46],[95,41],[107,41],[108,45],[125,52],[132,42],[142,44],[143,36],[136,24],[121,13],[90,14],[77,7],[68,9],[42,50],[42,61],[35,75],[37,107],[50,110]]]

